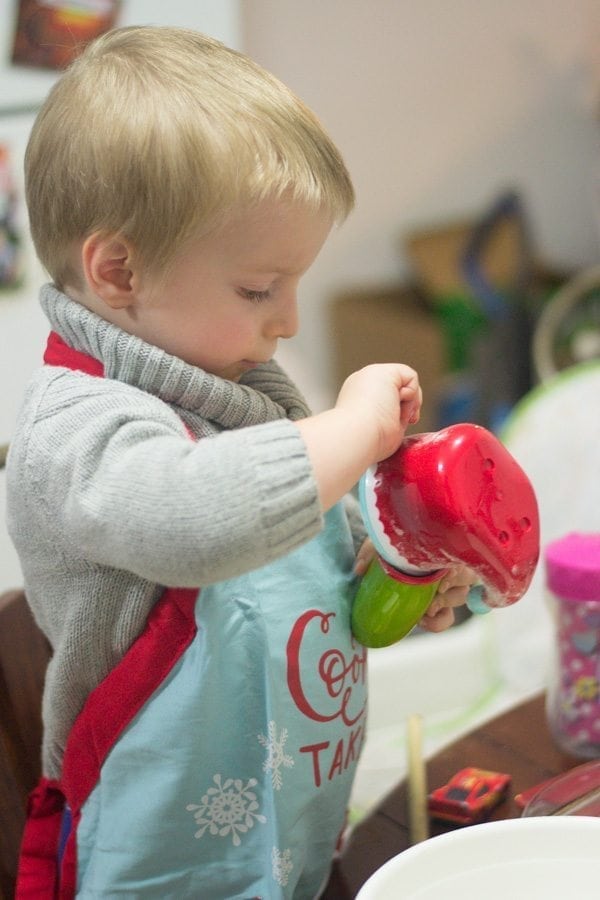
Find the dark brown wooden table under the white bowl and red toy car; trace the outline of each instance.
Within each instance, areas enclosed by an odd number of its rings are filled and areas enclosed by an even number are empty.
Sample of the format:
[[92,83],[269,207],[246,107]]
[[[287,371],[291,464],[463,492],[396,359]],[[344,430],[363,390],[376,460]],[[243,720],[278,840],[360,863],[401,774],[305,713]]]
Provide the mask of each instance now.
[[[583,760],[562,753],[548,732],[544,697],[539,695],[437,753],[427,764],[429,789],[445,784],[465,766],[506,772],[512,783],[506,800],[491,819],[521,814],[514,796]],[[431,835],[457,826],[431,820]],[[376,810],[353,831],[342,858],[335,864],[323,900],[351,900],[384,862],[410,846],[408,792],[401,782]]]

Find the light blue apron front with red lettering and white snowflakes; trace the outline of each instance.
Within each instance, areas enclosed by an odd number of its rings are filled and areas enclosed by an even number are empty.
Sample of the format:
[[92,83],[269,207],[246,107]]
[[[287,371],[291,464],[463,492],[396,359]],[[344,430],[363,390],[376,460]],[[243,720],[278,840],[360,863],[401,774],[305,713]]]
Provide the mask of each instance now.
[[286,558],[198,595],[198,631],[109,753],[77,896],[314,898],[365,728],[341,506]]

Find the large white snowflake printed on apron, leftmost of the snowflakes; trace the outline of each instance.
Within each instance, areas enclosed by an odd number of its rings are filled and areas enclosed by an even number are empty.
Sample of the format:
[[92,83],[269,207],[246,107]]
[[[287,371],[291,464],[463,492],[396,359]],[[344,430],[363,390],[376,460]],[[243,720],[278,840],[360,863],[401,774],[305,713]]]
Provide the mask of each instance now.
[[210,787],[202,797],[200,804],[190,803],[188,812],[194,813],[196,825],[200,828],[194,837],[201,838],[208,828],[210,834],[219,837],[231,835],[235,847],[239,847],[240,834],[245,834],[255,822],[265,823],[265,816],[258,810],[256,794],[250,788],[258,784],[256,778],[250,778],[244,785],[241,778],[228,778],[222,781],[221,775],[213,775],[216,787]]

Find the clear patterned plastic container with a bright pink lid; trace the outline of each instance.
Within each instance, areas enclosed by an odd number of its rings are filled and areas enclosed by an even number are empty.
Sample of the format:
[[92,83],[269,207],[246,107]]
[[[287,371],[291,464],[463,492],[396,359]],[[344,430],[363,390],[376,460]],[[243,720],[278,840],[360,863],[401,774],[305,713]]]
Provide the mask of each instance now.
[[600,757],[600,534],[569,534],[545,552],[555,628],[546,712],[557,745]]

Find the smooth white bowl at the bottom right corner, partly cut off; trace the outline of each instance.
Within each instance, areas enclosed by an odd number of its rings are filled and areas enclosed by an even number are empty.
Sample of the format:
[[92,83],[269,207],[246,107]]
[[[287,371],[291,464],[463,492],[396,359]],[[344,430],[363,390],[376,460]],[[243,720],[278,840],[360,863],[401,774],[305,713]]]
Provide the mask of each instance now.
[[600,819],[471,825],[390,859],[356,900],[598,900]]

